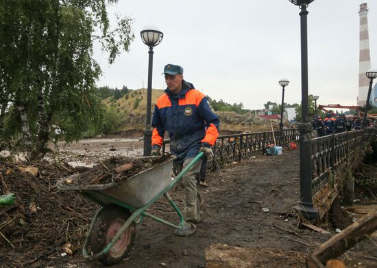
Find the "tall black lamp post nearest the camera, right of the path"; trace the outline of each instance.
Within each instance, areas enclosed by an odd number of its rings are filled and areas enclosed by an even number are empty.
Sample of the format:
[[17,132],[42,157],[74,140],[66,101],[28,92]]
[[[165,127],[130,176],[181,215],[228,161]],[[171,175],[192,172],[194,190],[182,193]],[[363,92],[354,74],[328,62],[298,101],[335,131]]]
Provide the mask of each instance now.
[[289,0],[301,9],[301,96],[302,123],[300,131],[300,202],[295,209],[300,211],[306,219],[318,217],[318,211],[313,206],[311,179],[311,131],[308,114],[308,11],[306,8],[314,0]]

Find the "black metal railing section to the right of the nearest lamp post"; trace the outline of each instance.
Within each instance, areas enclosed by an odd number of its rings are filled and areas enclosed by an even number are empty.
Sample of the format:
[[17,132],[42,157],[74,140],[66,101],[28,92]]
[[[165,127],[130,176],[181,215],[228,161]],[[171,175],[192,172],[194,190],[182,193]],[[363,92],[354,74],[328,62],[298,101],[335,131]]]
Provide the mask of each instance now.
[[376,129],[348,131],[312,139],[312,187],[317,193],[344,165],[354,163],[358,149],[377,135]]

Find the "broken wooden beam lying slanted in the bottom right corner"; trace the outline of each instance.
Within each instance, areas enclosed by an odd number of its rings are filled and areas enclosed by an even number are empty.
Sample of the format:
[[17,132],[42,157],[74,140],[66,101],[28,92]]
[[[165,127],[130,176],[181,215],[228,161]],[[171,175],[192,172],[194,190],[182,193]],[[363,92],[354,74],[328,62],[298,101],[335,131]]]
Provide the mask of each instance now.
[[307,259],[306,267],[315,268],[315,262],[312,260],[319,260],[320,263],[326,264],[331,258],[337,258],[351,247],[367,238],[377,230],[377,211],[369,213],[354,222],[343,232],[335,235],[315,250]]

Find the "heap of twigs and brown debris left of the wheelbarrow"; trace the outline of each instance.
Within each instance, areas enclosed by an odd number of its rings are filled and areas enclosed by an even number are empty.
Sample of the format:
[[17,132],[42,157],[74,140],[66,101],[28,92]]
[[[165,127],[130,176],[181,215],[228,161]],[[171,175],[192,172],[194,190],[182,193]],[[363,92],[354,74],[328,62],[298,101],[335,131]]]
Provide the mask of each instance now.
[[56,189],[58,180],[75,172],[64,164],[22,166],[0,160],[0,195],[16,197],[14,204],[0,206],[0,263],[45,267],[80,248],[99,208],[75,193]]

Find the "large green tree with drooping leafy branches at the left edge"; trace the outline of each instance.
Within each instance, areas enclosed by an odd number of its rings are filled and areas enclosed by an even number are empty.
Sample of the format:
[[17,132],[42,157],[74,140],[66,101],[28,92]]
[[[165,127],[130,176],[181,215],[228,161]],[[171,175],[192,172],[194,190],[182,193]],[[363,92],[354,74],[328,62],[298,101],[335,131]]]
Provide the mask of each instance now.
[[[95,81],[101,69],[93,59],[93,42],[102,45],[112,64],[121,51],[129,51],[134,39],[130,18],[118,18],[110,29],[106,9],[116,2],[0,2],[2,143],[8,131],[4,127],[12,127],[12,139],[32,157],[40,157],[54,135],[52,124],[64,131],[68,142],[80,138],[88,124],[100,127],[104,107]],[[15,121],[4,124],[10,111]]]

